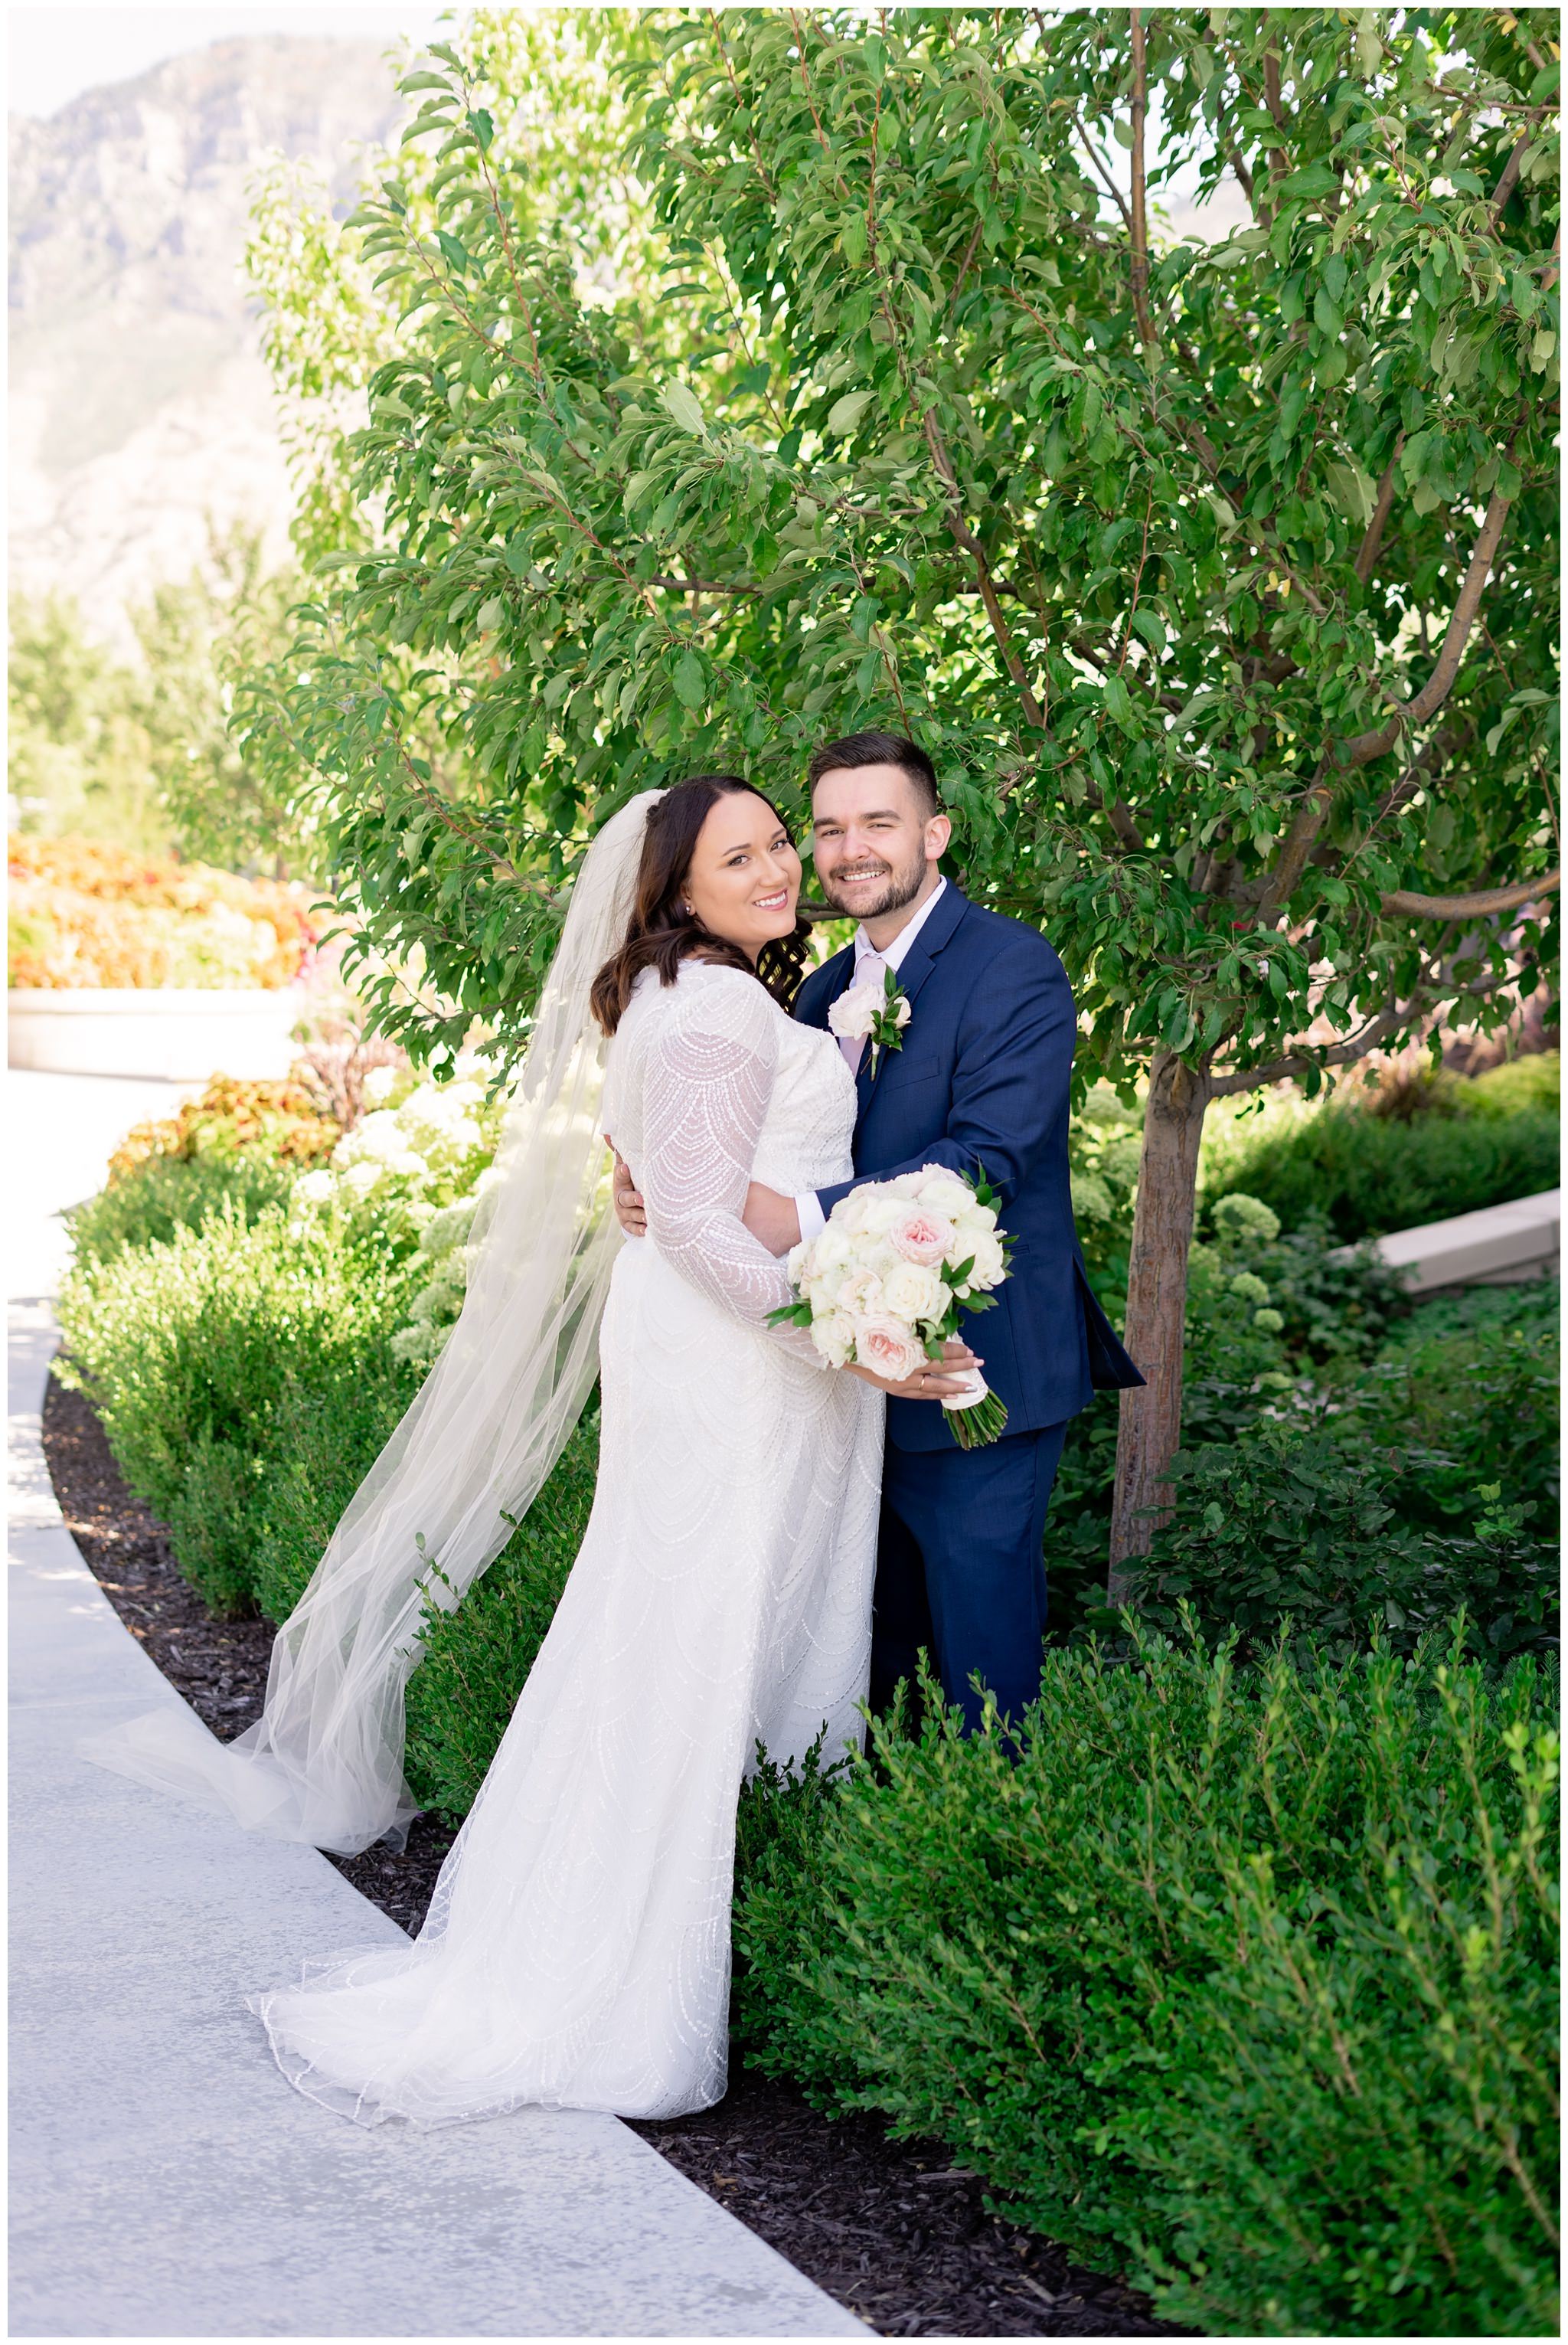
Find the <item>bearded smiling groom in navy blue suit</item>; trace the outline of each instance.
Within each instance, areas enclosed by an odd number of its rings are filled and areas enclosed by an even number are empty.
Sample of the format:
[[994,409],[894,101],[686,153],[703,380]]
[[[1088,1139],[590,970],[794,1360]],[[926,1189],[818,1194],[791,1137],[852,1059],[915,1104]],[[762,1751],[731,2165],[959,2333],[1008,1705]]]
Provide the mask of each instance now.
[[[952,823],[923,748],[851,734],[813,753],[809,779],[818,884],[860,929],[806,978],[795,1015],[830,1027],[844,992],[884,987],[891,968],[909,1018],[902,1048],[877,1051],[874,1067],[865,1044],[839,1044],[860,1093],[855,1180],[795,1198],[752,1184],[745,1226],[783,1255],[858,1182],[926,1163],[984,1170],[1001,1191],[1013,1266],[996,1309],[963,1334],[1008,1407],[1008,1430],[961,1449],[930,1400],[888,1400],[870,1693],[884,1710],[926,1646],[970,1726],[975,1672],[1020,1719],[1041,1691],[1041,1550],[1069,1419],[1097,1386],[1144,1381],[1090,1292],[1073,1231],[1073,997],[1038,929],[982,910],[942,877]],[[628,1184],[616,1205],[640,1226]]]

